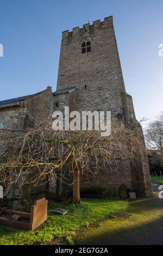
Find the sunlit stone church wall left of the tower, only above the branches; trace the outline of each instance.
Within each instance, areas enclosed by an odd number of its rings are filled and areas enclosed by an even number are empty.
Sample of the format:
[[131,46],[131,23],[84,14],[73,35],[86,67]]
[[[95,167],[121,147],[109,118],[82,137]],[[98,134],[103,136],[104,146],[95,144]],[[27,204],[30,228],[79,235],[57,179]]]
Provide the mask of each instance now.
[[25,130],[34,124],[46,121],[52,114],[53,94],[47,88],[27,97],[20,106],[0,109],[0,129]]

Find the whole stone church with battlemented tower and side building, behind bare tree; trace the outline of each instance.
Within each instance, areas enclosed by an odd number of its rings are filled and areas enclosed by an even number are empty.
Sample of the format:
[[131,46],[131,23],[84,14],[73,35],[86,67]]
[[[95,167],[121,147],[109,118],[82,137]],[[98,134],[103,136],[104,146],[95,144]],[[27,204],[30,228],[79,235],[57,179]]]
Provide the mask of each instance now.
[[[135,122],[143,136],[132,97],[124,87],[112,16],[62,32],[57,90],[53,93],[48,87],[34,95],[1,101],[0,128],[24,129],[48,119],[57,109],[64,111],[65,106],[79,112],[111,111],[127,124]],[[146,156],[135,166],[121,163],[115,172],[81,175],[85,194],[93,191],[96,196],[104,191],[106,196],[118,197],[122,184],[134,187],[139,196],[151,193]],[[55,193],[56,188],[49,191]]]

